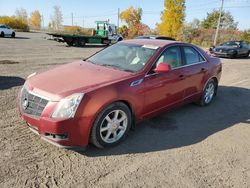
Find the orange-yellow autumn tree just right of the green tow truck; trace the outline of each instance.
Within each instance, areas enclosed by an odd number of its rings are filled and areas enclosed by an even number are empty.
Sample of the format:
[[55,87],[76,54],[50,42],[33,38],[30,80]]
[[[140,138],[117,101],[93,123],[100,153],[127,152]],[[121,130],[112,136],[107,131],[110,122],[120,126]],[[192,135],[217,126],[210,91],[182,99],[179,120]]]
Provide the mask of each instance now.
[[128,26],[128,36],[133,37],[136,35],[140,35],[140,29],[142,26],[141,23],[142,17],[142,9],[138,8],[135,9],[134,7],[129,7],[128,9],[124,10],[120,14],[120,18],[122,21],[126,22]]

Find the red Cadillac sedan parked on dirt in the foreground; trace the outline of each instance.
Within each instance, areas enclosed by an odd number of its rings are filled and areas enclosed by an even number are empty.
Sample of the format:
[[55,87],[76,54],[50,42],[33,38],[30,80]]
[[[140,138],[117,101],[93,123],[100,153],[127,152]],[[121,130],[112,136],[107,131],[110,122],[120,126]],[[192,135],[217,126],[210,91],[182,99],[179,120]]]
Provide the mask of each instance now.
[[18,97],[28,126],[64,147],[113,146],[135,124],[182,104],[209,105],[220,59],[192,44],[126,40],[30,75]]

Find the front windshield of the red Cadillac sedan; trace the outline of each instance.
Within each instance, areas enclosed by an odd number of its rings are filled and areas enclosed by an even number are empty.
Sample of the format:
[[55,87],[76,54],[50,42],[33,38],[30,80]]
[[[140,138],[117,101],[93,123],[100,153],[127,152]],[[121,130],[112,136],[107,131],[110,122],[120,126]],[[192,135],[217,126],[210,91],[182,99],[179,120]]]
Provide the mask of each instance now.
[[142,70],[158,47],[138,44],[114,44],[88,58],[91,63],[115,69],[137,72]]

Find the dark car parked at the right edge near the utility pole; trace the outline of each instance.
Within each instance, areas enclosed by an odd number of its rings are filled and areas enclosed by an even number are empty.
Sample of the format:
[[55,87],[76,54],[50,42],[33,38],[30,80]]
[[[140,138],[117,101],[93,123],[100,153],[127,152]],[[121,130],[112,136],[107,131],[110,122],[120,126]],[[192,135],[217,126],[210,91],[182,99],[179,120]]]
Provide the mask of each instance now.
[[243,41],[229,41],[212,49],[212,53],[218,57],[248,57],[250,48]]

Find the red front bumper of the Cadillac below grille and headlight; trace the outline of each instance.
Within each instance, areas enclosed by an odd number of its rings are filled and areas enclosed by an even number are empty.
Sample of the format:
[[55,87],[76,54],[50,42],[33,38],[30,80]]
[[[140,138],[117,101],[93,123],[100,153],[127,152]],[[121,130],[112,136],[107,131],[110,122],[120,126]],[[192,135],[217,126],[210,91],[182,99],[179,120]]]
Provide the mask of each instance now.
[[54,120],[51,118],[34,118],[21,112],[29,128],[44,140],[66,148],[86,147],[91,128],[90,118],[72,118]]

